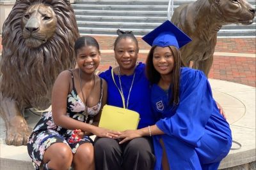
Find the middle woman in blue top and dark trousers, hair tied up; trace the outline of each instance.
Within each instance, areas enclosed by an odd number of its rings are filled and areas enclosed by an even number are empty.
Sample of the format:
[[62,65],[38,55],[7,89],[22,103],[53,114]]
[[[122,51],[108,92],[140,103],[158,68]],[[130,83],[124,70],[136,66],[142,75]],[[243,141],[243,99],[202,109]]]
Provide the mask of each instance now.
[[[109,67],[100,74],[108,82],[107,104],[123,108],[120,91],[125,98],[125,108],[140,113],[139,128],[153,125],[150,108],[149,81],[145,76],[145,64],[137,64],[138,41],[131,32],[118,30],[115,45],[115,59],[118,67]],[[116,85],[111,76],[113,69]],[[136,138],[119,144],[118,139],[96,138],[94,143],[95,168],[99,170],[150,170],[154,168],[155,157],[152,149],[152,139]]]

